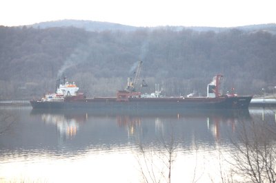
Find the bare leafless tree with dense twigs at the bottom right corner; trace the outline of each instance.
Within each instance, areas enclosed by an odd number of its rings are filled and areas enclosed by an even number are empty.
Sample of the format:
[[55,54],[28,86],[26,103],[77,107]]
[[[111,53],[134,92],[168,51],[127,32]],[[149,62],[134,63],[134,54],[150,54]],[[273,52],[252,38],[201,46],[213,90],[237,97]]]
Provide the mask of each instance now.
[[242,121],[233,151],[235,173],[250,182],[276,182],[275,125],[266,121]]

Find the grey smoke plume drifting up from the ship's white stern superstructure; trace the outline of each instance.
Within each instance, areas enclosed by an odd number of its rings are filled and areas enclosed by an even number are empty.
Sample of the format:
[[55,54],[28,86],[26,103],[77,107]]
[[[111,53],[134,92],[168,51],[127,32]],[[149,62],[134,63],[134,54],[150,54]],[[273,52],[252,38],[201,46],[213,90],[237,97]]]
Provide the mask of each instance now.
[[66,71],[66,69],[77,66],[80,63],[86,62],[88,54],[89,52],[88,50],[86,50],[86,47],[84,45],[79,45],[63,63],[63,65],[57,72],[57,77],[60,78],[62,74]]

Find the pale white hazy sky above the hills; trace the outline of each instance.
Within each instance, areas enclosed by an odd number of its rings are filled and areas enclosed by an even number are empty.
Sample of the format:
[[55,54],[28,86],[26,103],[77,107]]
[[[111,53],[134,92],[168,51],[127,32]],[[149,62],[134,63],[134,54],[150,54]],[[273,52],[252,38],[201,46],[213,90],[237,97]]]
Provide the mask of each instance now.
[[79,19],[144,27],[232,27],[275,23],[275,5],[275,0],[1,0],[0,25]]

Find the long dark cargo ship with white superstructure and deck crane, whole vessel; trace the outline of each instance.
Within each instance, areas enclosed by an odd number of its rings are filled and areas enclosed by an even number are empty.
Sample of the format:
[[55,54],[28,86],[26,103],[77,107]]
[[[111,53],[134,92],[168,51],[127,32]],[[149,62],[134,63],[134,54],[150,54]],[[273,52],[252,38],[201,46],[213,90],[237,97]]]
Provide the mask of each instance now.
[[[139,68],[139,67],[138,67]],[[207,96],[168,97],[156,91],[150,96],[137,92],[137,69],[135,79],[128,78],[126,89],[118,91],[114,97],[86,98],[79,92],[75,83],[68,83],[66,78],[57,85],[56,92],[46,94],[39,100],[30,100],[33,109],[92,109],[92,110],[185,110],[185,109],[248,109],[252,96],[237,94],[221,95],[219,84],[222,78],[217,74],[207,85]]]

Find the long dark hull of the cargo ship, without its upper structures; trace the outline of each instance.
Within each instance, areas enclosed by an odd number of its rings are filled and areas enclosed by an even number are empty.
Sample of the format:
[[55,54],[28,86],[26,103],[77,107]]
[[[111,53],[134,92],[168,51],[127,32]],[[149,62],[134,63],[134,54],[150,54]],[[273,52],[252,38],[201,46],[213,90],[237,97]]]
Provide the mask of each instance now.
[[219,96],[217,98],[66,98],[63,102],[31,100],[34,109],[248,109],[252,96]]

